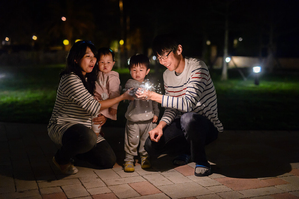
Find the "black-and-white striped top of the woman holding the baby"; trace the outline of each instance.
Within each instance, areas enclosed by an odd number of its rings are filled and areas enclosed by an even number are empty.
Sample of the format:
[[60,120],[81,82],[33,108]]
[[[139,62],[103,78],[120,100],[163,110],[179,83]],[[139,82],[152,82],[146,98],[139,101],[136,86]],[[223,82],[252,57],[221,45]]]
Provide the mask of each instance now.
[[[74,73],[62,76],[57,98],[48,124],[50,138],[62,145],[62,134],[74,124],[83,124],[91,128],[91,116],[96,116],[101,104],[93,98]],[[99,136],[97,142],[104,140]]]

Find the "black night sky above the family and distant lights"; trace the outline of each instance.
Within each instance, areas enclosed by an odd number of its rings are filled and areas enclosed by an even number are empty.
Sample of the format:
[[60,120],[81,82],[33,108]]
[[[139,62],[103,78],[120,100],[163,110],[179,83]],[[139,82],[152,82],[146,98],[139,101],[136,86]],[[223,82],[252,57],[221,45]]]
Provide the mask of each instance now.
[[[277,57],[299,57],[298,8],[298,0],[123,0],[121,13],[118,0],[1,1],[0,38],[26,46],[36,35],[35,46],[42,50],[62,45],[66,38],[91,40],[98,48],[127,39],[133,50],[145,53],[155,35],[176,33],[186,54],[201,55],[210,40],[221,56],[228,13],[231,55],[258,56],[261,49],[266,56],[272,44]],[[234,45],[240,37],[242,41]]]

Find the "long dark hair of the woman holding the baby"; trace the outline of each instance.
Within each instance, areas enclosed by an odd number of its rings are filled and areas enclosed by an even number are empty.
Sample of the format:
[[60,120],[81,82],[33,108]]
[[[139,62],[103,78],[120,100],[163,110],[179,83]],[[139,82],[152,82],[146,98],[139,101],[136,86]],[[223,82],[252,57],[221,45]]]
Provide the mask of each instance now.
[[74,43],[71,50],[68,52],[68,56],[66,57],[66,67],[59,75],[61,78],[64,74],[71,72],[75,73],[82,80],[83,85],[88,92],[93,95],[94,83],[97,80],[98,67],[94,67],[90,73],[86,73],[84,76],[80,66],[75,62],[75,60],[79,62],[79,60],[83,58],[87,47],[90,48],[94,57],[97,58],[97,48],[93,45],[93,43],[91,43],[91,41],[78,41]]

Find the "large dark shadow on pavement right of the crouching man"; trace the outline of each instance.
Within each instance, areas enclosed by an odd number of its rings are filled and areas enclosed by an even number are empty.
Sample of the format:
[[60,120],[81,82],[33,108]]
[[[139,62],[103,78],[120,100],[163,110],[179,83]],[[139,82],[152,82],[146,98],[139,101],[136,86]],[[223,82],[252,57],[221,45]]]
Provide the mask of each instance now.
[[206,146],[213,173],[234,178],[276,177],[299,162],[299,133],[225,131]]

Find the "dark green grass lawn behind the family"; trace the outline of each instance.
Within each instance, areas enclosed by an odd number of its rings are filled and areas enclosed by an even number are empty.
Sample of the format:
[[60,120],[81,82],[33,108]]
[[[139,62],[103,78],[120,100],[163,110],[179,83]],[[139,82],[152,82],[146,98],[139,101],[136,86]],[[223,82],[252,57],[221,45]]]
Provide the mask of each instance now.
[[[47,124],[56,100],[59,72],[63,67],[0,66],[0,121]],[[117,71],[124,87],[126,80],[131,78],[128,69]],[[162,72],[151,70],[148,78],[162,84]],[[259,86],[254,85],[251,72],[247,69],[243,72],[246,81],[236,70],[229,70],[229,80],[220,81],[221,71],[211,71],[219,119],[225,130],[299,130],[298,72],[262,74]],[[123,127],[127,106],[127,101],[120,102],[118,120],[108,120],[105,125]],[[162,113],[163,108],[160,117]]]

